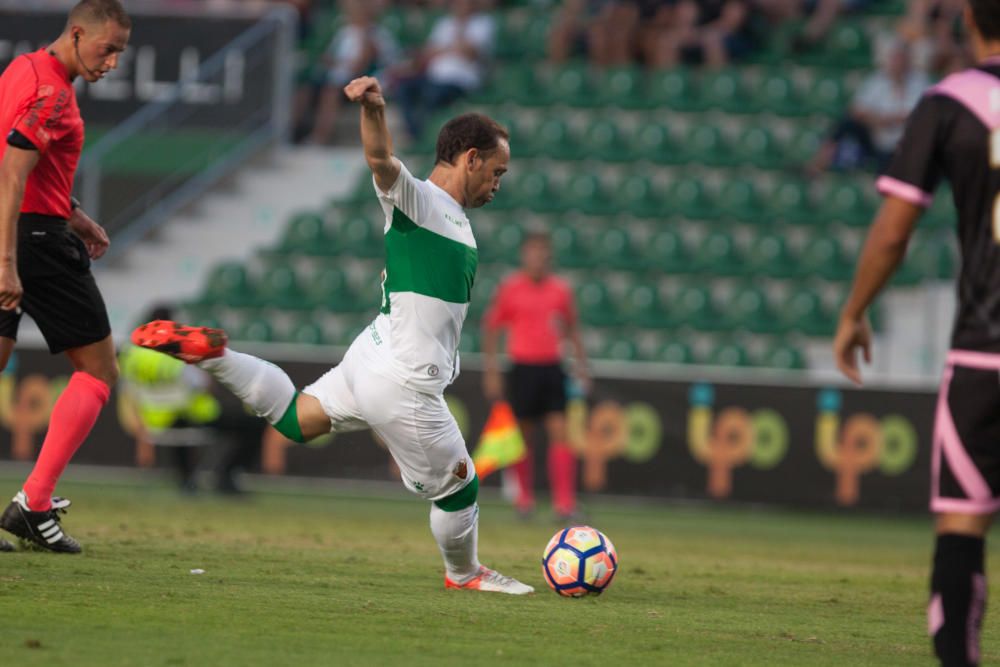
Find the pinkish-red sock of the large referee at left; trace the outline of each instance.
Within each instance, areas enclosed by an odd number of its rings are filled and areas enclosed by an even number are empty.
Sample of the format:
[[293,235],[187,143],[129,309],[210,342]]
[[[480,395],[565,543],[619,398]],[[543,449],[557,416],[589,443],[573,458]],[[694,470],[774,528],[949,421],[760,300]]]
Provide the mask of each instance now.
[[73,454],[94,427],[111,389],[93,375],[77,371],[59,396],[49,418],[35,467],[24,483],[28,507],[45,512],[52,507],[52,492]]

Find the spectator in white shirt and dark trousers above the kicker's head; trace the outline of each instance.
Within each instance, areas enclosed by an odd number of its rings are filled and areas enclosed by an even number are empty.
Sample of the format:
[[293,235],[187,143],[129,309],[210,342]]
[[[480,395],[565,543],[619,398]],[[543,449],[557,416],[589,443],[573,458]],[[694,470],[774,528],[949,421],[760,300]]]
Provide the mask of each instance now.
[[411,138],[430,114],[482,86],[495,34],[493,17],[478,12],[476,0],[452,0],[451,13],[434,25],[396,87]]

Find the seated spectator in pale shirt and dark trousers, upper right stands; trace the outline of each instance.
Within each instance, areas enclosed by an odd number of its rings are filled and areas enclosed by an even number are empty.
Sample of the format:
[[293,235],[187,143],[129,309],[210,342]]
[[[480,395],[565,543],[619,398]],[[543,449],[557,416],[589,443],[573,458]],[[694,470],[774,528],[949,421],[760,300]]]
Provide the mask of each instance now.
[[912,67],[909,47],[896,41],[880,58],[881,67],[862,81],[846,118],[820,147],[807,171],[815,176],[829,168],[849,170],[887,164],[910,111],[930,85]]

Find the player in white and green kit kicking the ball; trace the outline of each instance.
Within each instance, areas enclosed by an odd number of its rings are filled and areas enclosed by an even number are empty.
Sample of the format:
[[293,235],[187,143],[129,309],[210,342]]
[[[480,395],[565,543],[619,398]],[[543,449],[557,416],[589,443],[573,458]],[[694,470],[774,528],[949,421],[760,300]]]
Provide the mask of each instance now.
[[227,349],[219,329],[158,320],[137,328],[132,341],[197,363],[292,440],[371,428],[406,488],[431,501],[445,587],[532,593],[479,563],[479,480],[443,396],[458,375],[478,261],[464,209],[489,203],[499,189],[508,134],[481,114],[453,118],[438,136],[430,178],[421,181],[392,154],[379,82],[362,77],[344,92],[361,105],[365,159],[385,213],[386,269],[380,313],[340,365],[297,392],[277,366]]

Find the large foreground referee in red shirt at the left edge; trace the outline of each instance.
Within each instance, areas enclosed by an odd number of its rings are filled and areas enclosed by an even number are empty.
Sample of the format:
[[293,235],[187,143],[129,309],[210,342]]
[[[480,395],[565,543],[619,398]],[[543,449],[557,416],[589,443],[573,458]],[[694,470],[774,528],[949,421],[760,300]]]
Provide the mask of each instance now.
[[[0,368],[27,313],[49,351],[64,352],[75,370],[0,528],[64,553],[80,544],[60,525],[69,501],[52,492],[118,377],[107,310],[90,272],[108,237],[70,196],[83,150],[73,81],[93,83],[115,69],[131,25],[119,0],[83,0],[56,41],[15,58],[0,75]],[[0,551],[12,548],[0,540]]]

